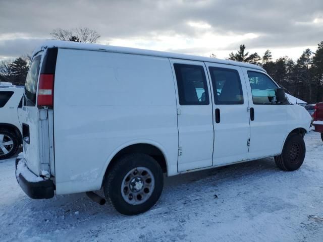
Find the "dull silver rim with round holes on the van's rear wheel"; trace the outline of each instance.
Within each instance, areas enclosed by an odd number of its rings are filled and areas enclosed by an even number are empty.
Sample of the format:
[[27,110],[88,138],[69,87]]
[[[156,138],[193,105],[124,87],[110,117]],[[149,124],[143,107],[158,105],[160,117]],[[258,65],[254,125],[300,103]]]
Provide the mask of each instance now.
[[121,194],[123,199],[131,205],[146,202],[155,188],[155,178],[146,167],[135,167],[123,178]]

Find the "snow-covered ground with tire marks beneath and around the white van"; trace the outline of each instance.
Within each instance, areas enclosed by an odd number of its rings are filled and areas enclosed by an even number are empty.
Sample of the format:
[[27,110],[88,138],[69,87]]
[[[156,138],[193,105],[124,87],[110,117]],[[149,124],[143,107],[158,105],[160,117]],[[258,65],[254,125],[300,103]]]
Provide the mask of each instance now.
[[168,177],[159,202],[128,217],[85,194],[29,199],[0,161],[0,241],[323,241],[323,142],[302,167],[273,158]]

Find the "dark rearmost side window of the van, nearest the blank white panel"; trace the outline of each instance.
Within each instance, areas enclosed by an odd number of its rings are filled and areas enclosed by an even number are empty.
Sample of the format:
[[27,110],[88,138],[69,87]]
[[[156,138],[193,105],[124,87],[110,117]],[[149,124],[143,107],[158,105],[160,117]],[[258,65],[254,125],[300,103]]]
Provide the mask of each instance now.
[[208,89],[204,68],[174,64],[180,105],[208,105]]

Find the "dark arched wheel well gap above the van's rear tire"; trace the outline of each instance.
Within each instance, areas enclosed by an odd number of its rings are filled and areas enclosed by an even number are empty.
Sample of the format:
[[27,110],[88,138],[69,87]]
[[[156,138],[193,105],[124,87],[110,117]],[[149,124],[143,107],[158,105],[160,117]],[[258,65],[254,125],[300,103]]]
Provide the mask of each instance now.
[[163,152],[161,152],[157,147],[149,144],[135,144],[123,148],[112,158],[106,171],[109,171],[121,156],[133,153],[141,153],[151,156],[158,162],[163,172],[167,172],[167,164]]

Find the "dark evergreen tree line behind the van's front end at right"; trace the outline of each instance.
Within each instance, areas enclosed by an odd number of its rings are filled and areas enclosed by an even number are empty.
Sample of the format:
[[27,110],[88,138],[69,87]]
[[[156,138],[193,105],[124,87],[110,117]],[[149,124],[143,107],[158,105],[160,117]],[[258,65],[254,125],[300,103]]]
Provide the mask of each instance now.
[[231,52],[228,59],[261,66],[287,93],[307,103],[323,101],[323,41],[314,52],[305,49],[296,62],[288,56],[273,61],[268,49],[262,57],[257,52],[249,54],[244,44],[236,53]]

